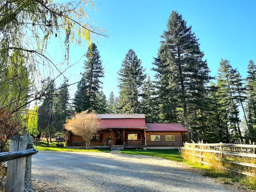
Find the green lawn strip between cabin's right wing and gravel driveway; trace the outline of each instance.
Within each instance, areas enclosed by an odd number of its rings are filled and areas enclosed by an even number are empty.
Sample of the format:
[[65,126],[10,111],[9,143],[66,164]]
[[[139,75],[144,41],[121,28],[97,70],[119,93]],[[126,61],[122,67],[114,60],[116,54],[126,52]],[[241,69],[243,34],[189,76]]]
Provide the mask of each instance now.
[[120,153],[131,154],[131,155],[145,155],[145,156],[154,156],[159,158],[165,158],[168,160],[174,160],[179,162],[184,162],[184,159],[181,157],[178,149],[170,150],[120,150]]

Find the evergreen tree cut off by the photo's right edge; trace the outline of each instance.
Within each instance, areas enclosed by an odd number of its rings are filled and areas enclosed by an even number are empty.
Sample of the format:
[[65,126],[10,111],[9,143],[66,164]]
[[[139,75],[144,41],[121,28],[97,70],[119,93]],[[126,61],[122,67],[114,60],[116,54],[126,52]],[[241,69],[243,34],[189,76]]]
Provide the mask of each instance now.
[[249,61],[248,76],[246,77],[246,95],[247,95],[247,116],[248,130],[246,130],[247,142],[256,142],[256,65],[252,60]]

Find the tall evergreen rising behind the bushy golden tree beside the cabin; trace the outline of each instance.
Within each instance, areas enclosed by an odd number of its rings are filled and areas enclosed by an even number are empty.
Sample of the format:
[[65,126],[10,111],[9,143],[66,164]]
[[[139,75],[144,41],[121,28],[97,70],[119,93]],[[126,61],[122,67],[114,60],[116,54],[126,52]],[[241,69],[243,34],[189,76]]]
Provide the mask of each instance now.
[[74,97],[74,106],[76,112],[85,110],[97,112],[98,98],[100,93],[102,81],[100,78],[104,77],[102,68],[102,61],[100,60],[100,53],[97,46],[93,43],[92,49],[88,49],[85,54],[87,60],[84,61],[84,70],[82,80],[77,85],[77,91]]

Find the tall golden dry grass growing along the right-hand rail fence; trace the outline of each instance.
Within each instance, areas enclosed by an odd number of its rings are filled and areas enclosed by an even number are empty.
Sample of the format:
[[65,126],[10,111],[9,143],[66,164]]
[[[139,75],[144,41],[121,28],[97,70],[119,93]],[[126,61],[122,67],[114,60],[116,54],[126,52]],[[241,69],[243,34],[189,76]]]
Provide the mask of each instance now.
[[[256,176],[256,168],[222,161],[222,159],[224,159],[224,160],[232,160],[232,161],[237,161],[242,163],[256,164],[256,158],[225,155],[225,154],[221,156],[221,154],[218,154],[218,153],[196,151],[195,149],[212,150],[210,146],[206,146],[206,145],[196,146],[195,144],[192,143],[190,145],[190,149],[183,147],[180,150],[182,158],[190,162],[190,164],[191,163],[196,164],[197,168],[201,168],[205,170],[206,175],[217,177],[220,180],[222,180],[224,183],[238,182],[240,184],[244,184],[248,186],[251,189],[256,189],[255,177],[232,173],[224,169],[224,168],[229,168],[232,170],[240,170],[240,171],[254,174]],[[230,151],[230,149],[228,148],[225,148],[225,150]]]

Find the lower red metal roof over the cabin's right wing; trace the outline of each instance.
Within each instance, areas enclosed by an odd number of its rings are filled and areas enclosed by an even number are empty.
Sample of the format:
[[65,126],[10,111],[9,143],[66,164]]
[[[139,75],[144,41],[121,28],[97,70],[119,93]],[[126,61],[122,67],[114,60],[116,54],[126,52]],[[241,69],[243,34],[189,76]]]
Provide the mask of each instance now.
[[186,128],[179,123],[146,123],[146,131],[178,131],[187,132]]

